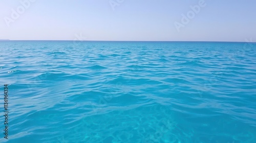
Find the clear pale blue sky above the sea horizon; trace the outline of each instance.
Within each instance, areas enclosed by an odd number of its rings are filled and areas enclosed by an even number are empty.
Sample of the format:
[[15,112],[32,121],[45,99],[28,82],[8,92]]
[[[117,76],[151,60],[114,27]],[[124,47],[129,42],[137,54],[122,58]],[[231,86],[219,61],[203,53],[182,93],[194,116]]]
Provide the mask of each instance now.
[[203,0],[33,1],[0,0],[0,39],[256,41],[255,0],[205,0],[194,15]]

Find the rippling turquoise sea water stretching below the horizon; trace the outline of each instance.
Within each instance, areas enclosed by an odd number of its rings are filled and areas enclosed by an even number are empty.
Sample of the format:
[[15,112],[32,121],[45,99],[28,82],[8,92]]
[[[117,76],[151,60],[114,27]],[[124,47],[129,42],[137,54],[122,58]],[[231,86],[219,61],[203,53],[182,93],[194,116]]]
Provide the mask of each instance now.
[[0,142],[256,142],[256,43],[1,41]]

